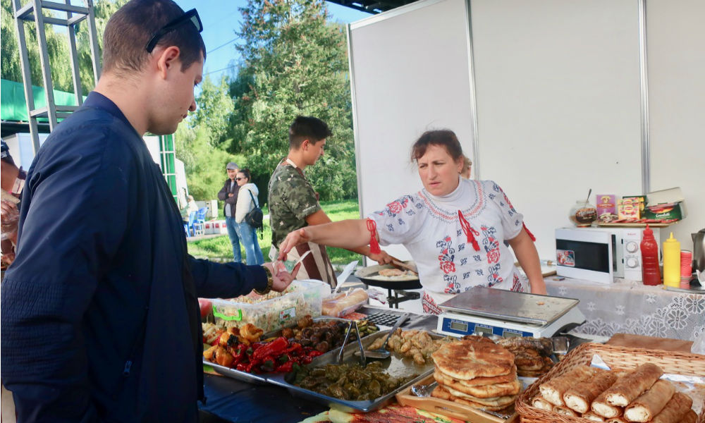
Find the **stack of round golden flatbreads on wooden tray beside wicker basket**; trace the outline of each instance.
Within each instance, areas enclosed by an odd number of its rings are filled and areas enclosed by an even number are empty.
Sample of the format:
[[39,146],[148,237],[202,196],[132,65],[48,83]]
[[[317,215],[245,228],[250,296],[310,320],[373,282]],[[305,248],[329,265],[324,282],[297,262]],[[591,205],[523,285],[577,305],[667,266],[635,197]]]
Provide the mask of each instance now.
[[431,355],[439,386],[432,396],[482,410],[504,410],[517,398],[514,355],[489,339],[447,343]]

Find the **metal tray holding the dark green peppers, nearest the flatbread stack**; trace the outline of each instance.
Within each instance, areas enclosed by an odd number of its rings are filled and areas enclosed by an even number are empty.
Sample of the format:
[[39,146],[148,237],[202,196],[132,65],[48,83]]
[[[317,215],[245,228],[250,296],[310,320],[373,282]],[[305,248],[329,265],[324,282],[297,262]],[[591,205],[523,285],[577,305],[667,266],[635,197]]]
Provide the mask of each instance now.
[[[364,348],[367,348],[370,344],[372,344],[372,342],[374,342],[374,340],[382,336],[386,336],[388,333],[389,331],[379,331],[377,333],[372,333],[372,335],[365,336],[364,338],[362,338],[362,346]],[[436,333],[429,333],[429,335],[431,335],[431,338],[434,339],[443,338],[443,336],[437,335]],[[357,360],[359,360],[359,357],[356,357],[354,355],[355,351],[357,351],[357,343],[354,344],[355,345],[348,344],[345,346],[345,349],[343,350],[344,363],[356,362]],[[337,364],[337,356],[326,354],[326,357],[324,357],[323,355],[321,355],[320,357],[317,357],[317,360],[314,360],[311,364],[308,364],[307,367],[321,367],[326,364]],[[387,393],[385,396],[381,396],[379,398],[376,398],[375,400],[366,401],[341,400],[338,398],[325,396],[321,393],[317,393],[314,391],[309,391],[308,389],[300,388],[299,386],[289,384],[286,381],[286,375],[284,374],[277,374],[276,376],[272,376],[271,378],[267,379],[267,381],[271,384],[283,386],[294,397],[305,398],[307,400],[311,400],[319,404],[327,405],[331,408],[336,408],[337,410],[342,410],[345,412],[371,412],[374,410],[378,410],[381,407],[384,407],[388,403],[391,403],[397,393],[404,391],[409,386],[417,384],[419,381],[427,378],[430,374],[434,372],[434,367],[434,362],[430,360],[429,362],[421,366],[419,364],[415,364],[414,361],[410,358],[402,359],[400,358],[400,356],[396,355],[395,353],[392,353],[391,359],[384,360],[384,368],[388,372],[390,372],[393,376],[404,376],[414,373],[418,373],[419,376],[415,377],[411,381],[408,381],[406,384],[403,384],[399,388],[396,388],[394,391]]]

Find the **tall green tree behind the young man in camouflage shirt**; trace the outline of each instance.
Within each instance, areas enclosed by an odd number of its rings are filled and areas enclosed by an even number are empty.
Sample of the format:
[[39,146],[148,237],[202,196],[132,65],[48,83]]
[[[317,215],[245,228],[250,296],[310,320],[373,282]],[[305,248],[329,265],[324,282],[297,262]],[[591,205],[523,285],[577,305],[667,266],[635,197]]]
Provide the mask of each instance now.
[[[248,0],[238,50],[243,79],[251,83],[235,100],[233,147],[247,154],[265,181],[288,151],[288,125],[316,116],[333,136],[307,176],[321,200],[357,195],[348,58],[343,27],[329,23],[323,0]],[[260,190],[263,187],[258,180]]]

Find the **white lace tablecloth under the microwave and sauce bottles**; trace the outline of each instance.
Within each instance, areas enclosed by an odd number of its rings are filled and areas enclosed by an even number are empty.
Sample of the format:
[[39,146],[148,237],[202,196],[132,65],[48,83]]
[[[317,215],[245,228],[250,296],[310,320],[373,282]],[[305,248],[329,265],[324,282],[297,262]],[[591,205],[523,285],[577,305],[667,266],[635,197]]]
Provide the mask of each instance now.
[[693,341],[705,331],[705,295],[678,293],[641,282],[611,284],[580,279],[544,279],[548,295],[580,300],[585,323],[574,331],[599,336],[615,333]]

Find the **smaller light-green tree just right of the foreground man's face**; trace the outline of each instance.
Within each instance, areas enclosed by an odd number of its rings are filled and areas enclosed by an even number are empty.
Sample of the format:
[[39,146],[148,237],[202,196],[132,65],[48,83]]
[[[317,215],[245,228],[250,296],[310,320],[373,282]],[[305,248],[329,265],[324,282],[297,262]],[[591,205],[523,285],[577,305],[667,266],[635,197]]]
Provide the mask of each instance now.
[[216,147],[228,144],[226,135],[234,107],[228,91],[228,80],[225,75],[219,85],[215,85],[206,75],[201,85],[201,92],[196,98],[196,113],[190,123],[192,128],[200,126],[209,128]]

